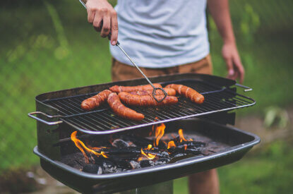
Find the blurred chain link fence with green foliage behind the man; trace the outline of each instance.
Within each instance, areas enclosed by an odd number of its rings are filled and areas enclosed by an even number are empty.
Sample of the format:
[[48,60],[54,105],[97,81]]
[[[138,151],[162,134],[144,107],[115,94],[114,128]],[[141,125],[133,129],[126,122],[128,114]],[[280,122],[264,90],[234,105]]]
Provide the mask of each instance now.
[[[254,97],[262,99],[261,107],[292,102],[292,93],[283,95],[282,81],[292,80],[293,1],[230,0],[230,4],[246,84],[256,89]],[[35,96],[109,82],[111,56],[107,40],[87,23],[78,0],[10,1],[1,6],[0,21],[0,171],[4,171],[38,164],[32,154],[36,123],[27,116],[35,111]],[[225,75],[222,42],[211,18],[210,42],[215,74]],[[265,84],[271,78],[274,82]],[[272,95],[270,99],[263,99],[264,92]]]

